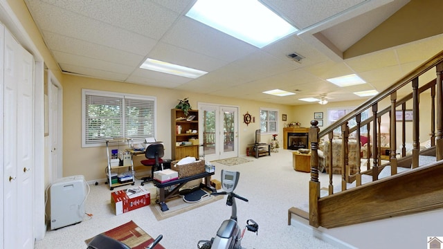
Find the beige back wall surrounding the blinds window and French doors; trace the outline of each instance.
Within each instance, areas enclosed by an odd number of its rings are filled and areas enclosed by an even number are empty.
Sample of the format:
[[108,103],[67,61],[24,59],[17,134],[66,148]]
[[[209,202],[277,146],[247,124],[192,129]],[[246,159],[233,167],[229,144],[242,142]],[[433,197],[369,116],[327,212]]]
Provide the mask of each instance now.
[[[170,110],[175,107],[178,100],[189,98],[192,109],[197,109],[199,102],[210,104],[224,104],[239,107],[239,154],[246,154],[246,146],[254,142],[254,131],[259,128],[260,107],[278,109],[280,113],[287,113],[288,120],[293,120],[293,107],[280,104],[268,104],[251,100],[237,100],[234,98],[221,98],[217,96],[183,93],[170,89],[161,89],[136,84],[125,84],[107,80],[97,80],[87,77],[63,75],[63,175],[73,176],[82,174],[87,181],[105,178],[107,154],[105,147],[82,148],[82,89],[101,91],[114,91],[150,95],[157,98],[157,140],[165,143],[165,158],[170,158],[171,151],[171,118]],[[248,126],[243,122],[244,113],[255,117],[255,123]],[[280,129],[282,134],[283,122],[280,114]],[[279,137],[282,139],[281,136]],[[271,135],[262,136],[263,140],[271,140]],[[122,148],[123,149],[123,148]],[[134,165],[139,165],[138,157]]]

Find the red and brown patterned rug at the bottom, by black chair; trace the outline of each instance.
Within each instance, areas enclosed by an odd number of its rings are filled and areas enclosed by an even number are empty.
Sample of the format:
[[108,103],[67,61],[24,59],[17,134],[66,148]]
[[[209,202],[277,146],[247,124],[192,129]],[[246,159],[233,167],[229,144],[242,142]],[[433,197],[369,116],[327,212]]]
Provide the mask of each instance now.
[[[152,238],[150,234],[147,234],[147,232],[145,232],[143,229],[139,228],[134,221],[129,221],[128,223],[120,225],[107,232],[103,232],[102,234],[121,241],[132,249],[146,248],[155,239]],[[94,237],[87,239],[84,242],[88,244],[93,238]],[[154,247],[154,249],[164,249],[164,247],[159,243]]]

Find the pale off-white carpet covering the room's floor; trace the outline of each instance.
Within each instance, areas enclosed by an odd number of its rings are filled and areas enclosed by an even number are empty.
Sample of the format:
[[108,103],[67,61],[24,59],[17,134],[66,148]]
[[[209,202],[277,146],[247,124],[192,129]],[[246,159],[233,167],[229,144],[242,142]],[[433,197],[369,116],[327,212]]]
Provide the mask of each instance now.
[[[288,209],[309,199],[309,174],[293,170],[292,151],[280,149],[278,153],[271,153],[271,156],[248,159],[252,162],[233,166],[213,162],[215,179],[220,179],[221,169],[239,171],[241,174],[235,193],[249,201],[237,201],[240,227],[244,228],[248,219],[253,219],[259,225],[258,234],[245,232],[242,246],[249,249],[335,249],[313,234],[288,225]],[[327,187],[329,177],[320,174],[319,178],[321,187]],[[340,179],[337,176],[334,181]],[[136,185],[140,183],[140,180],[136,181]],[[114,191],[125,188],[127,186],[116,187]],[[223,198],[158,221],[150,207],[116,215],[111,206],[109,186],[104,183],[91,185],[85,212],[93,216],[85,215],[84,221],[76,225],[46,232],[43,240],[35,242],[34,248],[86,248],[84,240],[134,221],[152,237],[163,234],[161,245],[165,248],[195,249],[199,240],[215,237],[221,223],[229,219],[231,210],[226,205],[226,196]]]

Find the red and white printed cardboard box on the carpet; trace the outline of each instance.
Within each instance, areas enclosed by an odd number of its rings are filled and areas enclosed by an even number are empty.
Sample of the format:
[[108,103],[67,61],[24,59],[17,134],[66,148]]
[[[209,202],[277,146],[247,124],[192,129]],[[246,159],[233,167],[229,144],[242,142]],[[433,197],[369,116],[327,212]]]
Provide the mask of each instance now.
[[[129,190],[134,190],[135,193],[129,192]],[[111,193],[111,205],[114,206],[116,215],[150,205],[150,203],[151,194],[142,186]]]

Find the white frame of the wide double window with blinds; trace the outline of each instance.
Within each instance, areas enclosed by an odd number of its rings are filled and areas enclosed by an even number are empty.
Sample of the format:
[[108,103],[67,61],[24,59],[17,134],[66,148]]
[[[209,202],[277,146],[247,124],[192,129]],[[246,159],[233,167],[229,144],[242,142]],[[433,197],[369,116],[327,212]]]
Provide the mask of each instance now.
[[[107,139],[110,139],[109,137],[103,138],[103,139],[97,139],[97,142],[88,142],[89,139],[87,139],[87,95],[96,95],[96,96],[102,96],[102,97],[110,97],[110,98],[119,98],[122,102],[122,113],[121,113],[121,120],[120,120],[120,133],[122,136],[119,136],[120,138],[127,138],[125,136],[125,126],[126,126],[126,117],[125,117],[125,104],[126,100],[146,100],[147,102],[152,101],[152,111],[154,112],[154,118],[152,120],[152,123],[154,124],[154,129],[152,129],[152,136],[154,138],[156,137],[156,128],[157,128],[157,100],[155,96],[149,96],[149,95],[136,95],[136,94],[129,94],[129,93],[118,93],[118,92],[111,92],[111,91],[100,91],[100,90],[92,90],[92,89],[82,89],[82,147],[101,147],[105,145],[105,142]],[[151,137],[150,135],[147,135],[146,137]],[[145,138],[134,138],[133,142],[144,142]]]

